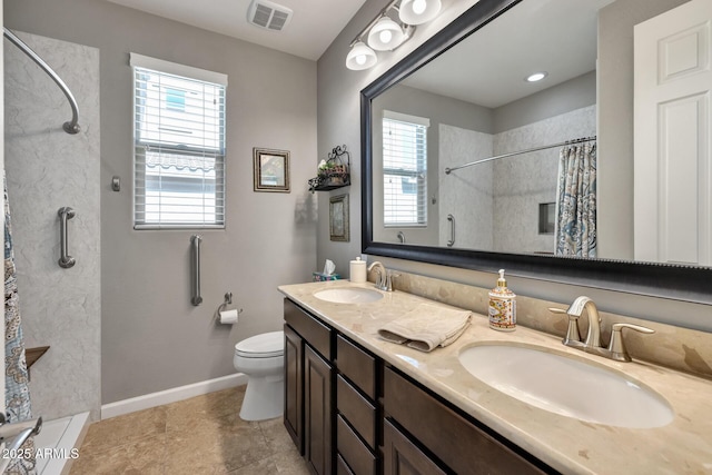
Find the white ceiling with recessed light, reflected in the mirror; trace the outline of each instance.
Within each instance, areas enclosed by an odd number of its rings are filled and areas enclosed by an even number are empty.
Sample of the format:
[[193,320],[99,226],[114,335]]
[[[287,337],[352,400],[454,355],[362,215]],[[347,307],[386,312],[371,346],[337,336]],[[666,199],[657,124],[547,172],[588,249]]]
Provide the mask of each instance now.
[[[596,67],[597,11],[613,0],[523,1],[404,83],[496,108]],[[546,71],[532,83],[524,78]]]

